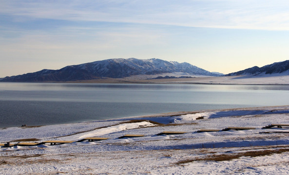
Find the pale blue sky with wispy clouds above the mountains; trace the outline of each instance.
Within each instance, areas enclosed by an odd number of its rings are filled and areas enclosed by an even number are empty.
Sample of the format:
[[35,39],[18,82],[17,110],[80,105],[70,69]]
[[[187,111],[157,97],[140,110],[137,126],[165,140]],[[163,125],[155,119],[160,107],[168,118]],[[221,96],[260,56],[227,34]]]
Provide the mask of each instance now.
[[0,0],[0,77],[110,58],[231,73],[289,59],[289,0]]

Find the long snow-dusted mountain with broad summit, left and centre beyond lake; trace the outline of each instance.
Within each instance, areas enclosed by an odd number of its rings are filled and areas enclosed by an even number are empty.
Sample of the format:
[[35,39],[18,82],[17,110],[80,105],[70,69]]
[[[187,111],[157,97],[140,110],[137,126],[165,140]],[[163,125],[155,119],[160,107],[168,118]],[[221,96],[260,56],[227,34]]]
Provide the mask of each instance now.
[[66,66],[60,70],[40,70],[23,75],[0,79],[2,82],[47,82],[78,81],[100,78],[124,78],[133,75],[155,75],[161,73],[186,72],[196,75],[220,76],[189,63],[164,61],[161,59],[115,58],[80,65]]

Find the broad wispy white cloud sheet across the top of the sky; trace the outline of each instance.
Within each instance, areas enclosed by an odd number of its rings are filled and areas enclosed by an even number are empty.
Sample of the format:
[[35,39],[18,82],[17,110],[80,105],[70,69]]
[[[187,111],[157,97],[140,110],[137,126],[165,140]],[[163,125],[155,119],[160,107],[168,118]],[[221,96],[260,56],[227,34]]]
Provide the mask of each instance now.
[[2,0],[14,20],[57,19],[289,30],[288,0]]

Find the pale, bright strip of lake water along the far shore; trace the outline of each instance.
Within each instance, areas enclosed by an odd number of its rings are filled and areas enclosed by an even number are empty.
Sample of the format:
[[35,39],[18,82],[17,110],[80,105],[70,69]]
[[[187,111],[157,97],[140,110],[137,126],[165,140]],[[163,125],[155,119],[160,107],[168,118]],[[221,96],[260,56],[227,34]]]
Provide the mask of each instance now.
[[285,85],[0,83],[0,90],[289,90]]

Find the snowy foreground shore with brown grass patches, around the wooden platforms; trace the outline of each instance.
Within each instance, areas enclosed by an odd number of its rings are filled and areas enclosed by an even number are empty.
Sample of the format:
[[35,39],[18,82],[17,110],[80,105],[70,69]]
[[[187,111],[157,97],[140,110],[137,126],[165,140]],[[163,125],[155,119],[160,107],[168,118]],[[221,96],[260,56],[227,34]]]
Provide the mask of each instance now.
[[[0,128],[0,142],[73,143],[0,148],[0,173],[289,174],[289,106],[159,114],[86,123]],[[228,127],[255,129],[227,130]],[[197,132],[215,129],[214,132]],[[159,135],[164,131],[185,134]],[[137,134],[144,137],[119,137]],[[82,141],[87,137],[108,140]]]

